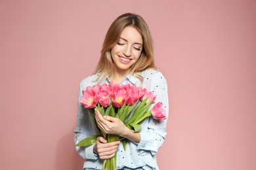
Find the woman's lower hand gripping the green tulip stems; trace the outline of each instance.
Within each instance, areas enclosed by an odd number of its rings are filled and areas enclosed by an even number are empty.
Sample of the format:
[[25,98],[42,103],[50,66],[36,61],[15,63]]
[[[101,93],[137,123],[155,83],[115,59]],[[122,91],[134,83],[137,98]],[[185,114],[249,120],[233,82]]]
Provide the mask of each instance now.
[[101,160],[108,160],[115,156],[120,141],[107,143],[104,137],[98,137],[93,147],[93,152],[98,154]]

